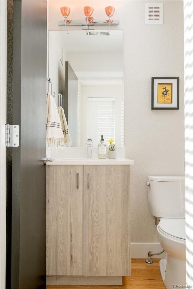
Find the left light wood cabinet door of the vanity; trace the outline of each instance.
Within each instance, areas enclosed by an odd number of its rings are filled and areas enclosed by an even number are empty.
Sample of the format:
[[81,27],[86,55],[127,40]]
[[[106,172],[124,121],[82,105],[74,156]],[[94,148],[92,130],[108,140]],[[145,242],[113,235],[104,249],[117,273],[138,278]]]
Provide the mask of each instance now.
[[84,275],[84,168],[46,166],[46,275]]

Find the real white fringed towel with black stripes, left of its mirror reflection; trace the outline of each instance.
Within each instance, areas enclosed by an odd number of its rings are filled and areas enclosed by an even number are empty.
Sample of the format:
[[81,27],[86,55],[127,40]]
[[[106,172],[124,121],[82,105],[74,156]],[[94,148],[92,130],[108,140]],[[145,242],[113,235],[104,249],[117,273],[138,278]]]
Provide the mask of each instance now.
[[58,148],[64,146],[64,135],[58,114],[57,106],[51,94],[47,94],[46,101],[46,142],[49,147]]

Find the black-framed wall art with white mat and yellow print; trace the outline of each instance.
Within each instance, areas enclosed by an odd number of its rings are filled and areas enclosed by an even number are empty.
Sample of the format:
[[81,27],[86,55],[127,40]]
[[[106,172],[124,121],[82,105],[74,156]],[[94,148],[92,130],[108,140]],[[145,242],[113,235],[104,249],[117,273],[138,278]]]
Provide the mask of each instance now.
[[151,78],[151,109],[179,109],[179,77]]

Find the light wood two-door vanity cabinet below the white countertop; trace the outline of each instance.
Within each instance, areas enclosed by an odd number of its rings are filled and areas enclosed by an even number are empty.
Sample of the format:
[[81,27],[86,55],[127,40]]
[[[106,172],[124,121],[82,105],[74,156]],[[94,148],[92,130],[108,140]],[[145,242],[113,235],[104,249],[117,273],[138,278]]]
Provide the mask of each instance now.
[[47,284],[120,284],[113,276],[130,275],[130,165],[48,165],[46,177]]

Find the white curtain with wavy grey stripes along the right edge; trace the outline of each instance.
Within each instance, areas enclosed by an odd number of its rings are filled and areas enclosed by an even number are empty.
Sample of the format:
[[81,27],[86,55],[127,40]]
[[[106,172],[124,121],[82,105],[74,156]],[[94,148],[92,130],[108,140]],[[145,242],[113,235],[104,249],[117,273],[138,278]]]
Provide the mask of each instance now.
[[[184,0],[186,284],[193,288],[193,1]],[[191,287],[190,287],[191,286]]]

